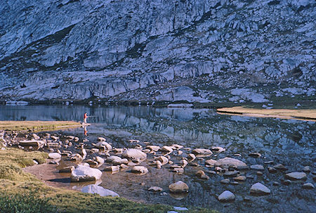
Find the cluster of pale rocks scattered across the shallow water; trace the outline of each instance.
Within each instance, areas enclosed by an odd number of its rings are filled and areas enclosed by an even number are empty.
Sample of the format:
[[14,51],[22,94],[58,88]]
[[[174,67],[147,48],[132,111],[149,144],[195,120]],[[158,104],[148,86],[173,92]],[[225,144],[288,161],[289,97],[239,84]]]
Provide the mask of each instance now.
[[[225,148],[211,147],[207,148],[185,148],[179,144],[171,146],[156,146],[150,145],[149,142],[140,142],[138,140],[130,140],[131,148],[116,148],[112,144],[107,143],[106,138],[99,137],[96,143],[80,141],[76,136],[53,136],[51,134],[8,134],[4,131],[0,132],[1,149],[4,150],[9,146],[18,146],[21,149],[38,149],[44,148],[48,150],[50,163],[58,164],[61,160],[72,161],[76,166],[64,167],[59,170],[62,173],[71,173],[71,181],[98,181],[101,179],[103,172],[99,169],[104,166],[104,172],[131,172],[134,174],[147,174],[149,167],[156,169],[169,169],[170,172],[178,174],[181,179],[181,174],[185,172],[187,167],[201,168],[195,172],[198,179],[207,181],[210,176],[220,175],[224,179],[220,181],[223,184],[237,185],[247,180],[254,179],[253,175],[246,175],[246,172],[254,170],[256,175],[262,176],[266,174],[279,174],[279,182],[272,183],[273,186],[290,185],[291,183],[301,183],[304,189],[313,189],[313,183],[304,183],[308,175],[312,174],[313,181],[316,180],[316,172],[311,172],[310,166],[303,167],[299,172],[287,172],[290,170],[283,164],[275,164],[273,161],[265,161],[263,164],[252,164],[248,166],[242,160],[238,160],[232,156],[223,157],[220,159],[211,159],[217,157],[218,153],[225,152]],[[73,147],[72,151],[69,150]],[[74,151],[76,150],[76,151]],[[239,154],[235,155],[239,157]],[[262,158],[261,153],[249,153],[251,158]],[[200,162],[204,162],[204,165]],[[272,165],[274,164],[274,165]],[[204,167],[205,169],[204,169]],[[267,172],[268,171],[268,172]],[[267,184],[265,182],[265,184]],[[249,193],[254,195],[269,195],[271,190],[265,184],[257,182],[249,187]],[[271,185],[270,183],[268,183]],[[190,183],[189,183],[190,186]],[[170,183],[170,193],[188,193],[190,188],[183,181]],[[84,192],[99,193],[100,195],[117,195],[107,189],[102,189],[99,186],[89,185],[82,189]],[[104,191],[105,190],[105,191]],[[159,186],[151,186],[148,191],[161,192],[163,188]],[[220,202],[232,202],[236,195],[230,191],[223,191],[218,195]]]

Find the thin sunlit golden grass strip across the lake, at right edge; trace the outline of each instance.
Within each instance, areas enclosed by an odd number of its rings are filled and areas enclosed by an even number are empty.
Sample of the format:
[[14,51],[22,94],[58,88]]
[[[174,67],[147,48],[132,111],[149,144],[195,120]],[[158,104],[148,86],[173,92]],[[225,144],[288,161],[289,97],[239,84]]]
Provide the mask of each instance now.
[[249,117],[277,117],[282,119],[316,121],[316,110],[256,109],[245,107],[218,108],[218,114]]

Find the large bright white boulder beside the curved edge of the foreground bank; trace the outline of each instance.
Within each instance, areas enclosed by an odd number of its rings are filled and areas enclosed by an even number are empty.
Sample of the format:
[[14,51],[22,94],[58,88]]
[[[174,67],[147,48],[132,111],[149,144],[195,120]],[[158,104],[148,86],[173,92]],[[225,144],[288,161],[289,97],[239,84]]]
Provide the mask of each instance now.
[[74,169],[74,171],[72,171],[70,179],[72,182],[96,181],[100,179],[101,176],[102,172],[99,169],[93,169],[90,167],[78,165],[78,167]]

